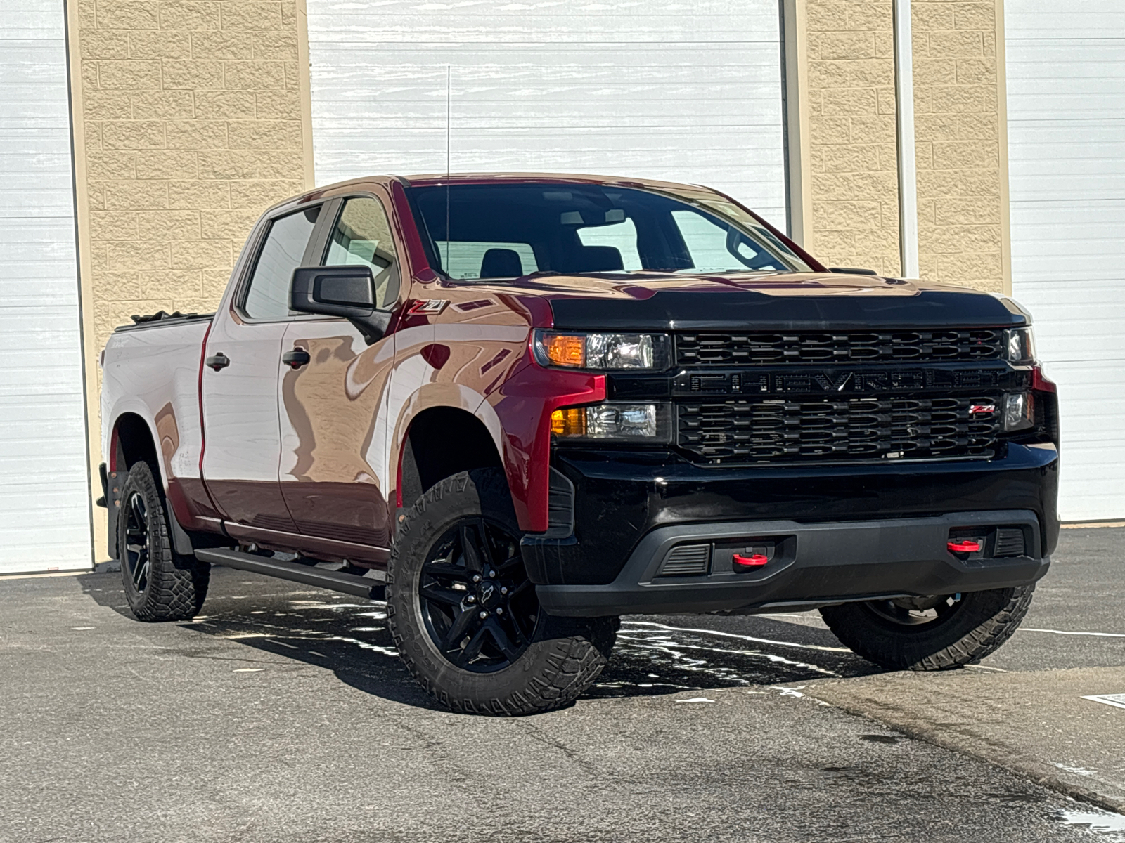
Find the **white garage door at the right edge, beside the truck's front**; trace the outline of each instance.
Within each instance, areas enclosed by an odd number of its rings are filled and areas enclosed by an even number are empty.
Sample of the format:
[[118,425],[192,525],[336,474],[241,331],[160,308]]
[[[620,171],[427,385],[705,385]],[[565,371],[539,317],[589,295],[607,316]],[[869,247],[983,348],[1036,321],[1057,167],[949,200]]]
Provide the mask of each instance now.
[[1006,0],[1012,290],[1062,406],[1064,519],[1125,517],[1125,6]]

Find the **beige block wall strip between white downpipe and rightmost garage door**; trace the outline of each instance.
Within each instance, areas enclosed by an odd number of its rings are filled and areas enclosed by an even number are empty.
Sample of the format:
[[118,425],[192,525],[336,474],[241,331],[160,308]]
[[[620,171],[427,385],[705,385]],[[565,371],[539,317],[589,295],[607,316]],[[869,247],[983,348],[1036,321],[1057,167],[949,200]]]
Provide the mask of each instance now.
[[921,277],[1004,290],[997,2],[912,0]]

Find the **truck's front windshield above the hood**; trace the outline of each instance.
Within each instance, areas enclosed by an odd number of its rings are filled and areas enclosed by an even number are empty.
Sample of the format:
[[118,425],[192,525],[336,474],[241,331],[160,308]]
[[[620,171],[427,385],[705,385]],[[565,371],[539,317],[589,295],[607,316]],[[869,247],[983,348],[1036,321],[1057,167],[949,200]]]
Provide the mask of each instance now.
[[722,197],[603,184],[452,184],[407,194],[449,278],[532,272],[793,272],[808,266]]

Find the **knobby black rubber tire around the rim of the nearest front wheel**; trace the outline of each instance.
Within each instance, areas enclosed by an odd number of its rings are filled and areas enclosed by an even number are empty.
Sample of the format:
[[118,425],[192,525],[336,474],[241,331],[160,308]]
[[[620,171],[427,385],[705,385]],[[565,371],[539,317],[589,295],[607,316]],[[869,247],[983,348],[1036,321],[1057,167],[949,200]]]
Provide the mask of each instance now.
[[[435,534],[435,538],[442,531],[433,527],[434,516],[440,517],[443,509],[456,511],[457,505],[468,504],[472,498],[482,501],[482,507],[490,505],[504,508],[504,502],[507,502],[506,508],[511,509],[511,496],[502,472],[494,469],[462,471],[428,489],[396,527],[387,566],[387,623],[399,658],[418,685],[438,703],[453,711],[518,716],[568,706],[605,668],[616,638],[619,618],[561,618],[541,615],[536,643],[532,645],[538,645],[541,651],[537,653],[537,664],[531,669],[524,667],[524,673],[530,676],[524,677],[522,682],[510,683],[508,688],[496,696],[441,688],[431,672],[418,662],[417,645],[412,640],[428,633],[418,619],[403,617],[400,601],[414,599],[411,592],[413,580],[408,572],[404,572],[404,566],[410,563],[407,554],[425,553],[429,547],[418,547],[412,540],[422,532]],[[494,510],[489,514],[496,515]],[[514,513],[510,514],[510,523],[514,527]],[[506,668],[502,673],[520,668],[526,655],[525,653],[515,665]]]

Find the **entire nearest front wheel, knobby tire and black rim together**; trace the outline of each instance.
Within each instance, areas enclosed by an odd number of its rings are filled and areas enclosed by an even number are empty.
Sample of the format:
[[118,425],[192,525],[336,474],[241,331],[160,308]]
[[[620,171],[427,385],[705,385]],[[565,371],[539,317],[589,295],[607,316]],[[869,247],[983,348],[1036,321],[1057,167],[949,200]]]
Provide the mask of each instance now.
[[498,470],[430,488],[398,525],[387,617],[414,678],[454,711],[560,708],[609,660],[616,618],[557,618],[539,606]]

